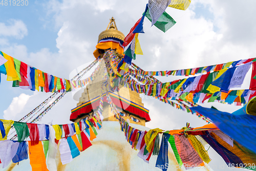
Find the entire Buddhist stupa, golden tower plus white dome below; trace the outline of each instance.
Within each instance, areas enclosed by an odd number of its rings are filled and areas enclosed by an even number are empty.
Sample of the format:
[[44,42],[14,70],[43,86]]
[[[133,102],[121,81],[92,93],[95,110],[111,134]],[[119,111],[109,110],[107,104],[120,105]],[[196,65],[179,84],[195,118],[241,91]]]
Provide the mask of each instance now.
[[[100,42],[108,42],[111,39],[110,46],[101,46]],[[123,53],[122,42],[124,39],[123,33],[117,30],[115,19],[112,17],[106,30],[99,34],[98,45],[94,52],[94,56],[102,57],[106,50],[113,50],[116,56]],[[112,59],[110,59],[112,60]],[[132,149],[131,144],[125,139],[124,133],[120,130],[120,123],[111,110],[110,104],[106,101],[106,90],[102,88],[102,77],[105,69],[104,60],[99,64],[99,70],[93,75],[93,79],[85,89],[77,92],[80,93],[79,102],[76,108],[72,109],[70,120],[79,122],[81,119],[90,119],[99,109],[100,97],[103,98],[103,122],[100,130],[97,131],[97,138],[91,141],[92,146],[81,152],[79,156],[73,159],[68,164],[62,165],[58,152],[55,158],[56,168],[62,170],[161,170],[156,167],[157,156],[152,156],[149,163],[144,162],[139,158],[138,152]],[[109,72],[109,71],[108,71]],[[111,80],[111,75],[108,78]],[[150,121],[150,115],[146,106],[142,103],[139,93],[132,91],[129,88],[120,87],[118,92],[110,92],[113,103],[117,109],[121,111],[121,115],[125,121],[138,130],[148,131],[145,127],[145,122]],[[161,136],[160,136],[161,142]],[[168,148],[169,167],[168,170],[183,170],[175,168],[177,160],[169,145]],[[47,159],[49,160],[49,159]],[[52,159],[53,160],[53,159]],[[47,164],[49,161],[46,161]],[[48,166],[47,166],[48,167]],[[49,169],[49,168],[48,168]],[[32,170],[30,161],[23,160],[22,162],[10,163],[3,170]],[[50,169],[49,169],[50,170]]]

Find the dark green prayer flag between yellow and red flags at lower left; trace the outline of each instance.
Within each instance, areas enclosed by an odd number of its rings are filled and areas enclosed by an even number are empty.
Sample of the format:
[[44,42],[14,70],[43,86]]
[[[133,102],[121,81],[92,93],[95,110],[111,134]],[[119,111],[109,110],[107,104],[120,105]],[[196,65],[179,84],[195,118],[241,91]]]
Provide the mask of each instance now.
[[22,142],[27,137],[30,136],[29,127],[28,127],[27,123],[14,121],[13,126],[17,133],[18,142]]

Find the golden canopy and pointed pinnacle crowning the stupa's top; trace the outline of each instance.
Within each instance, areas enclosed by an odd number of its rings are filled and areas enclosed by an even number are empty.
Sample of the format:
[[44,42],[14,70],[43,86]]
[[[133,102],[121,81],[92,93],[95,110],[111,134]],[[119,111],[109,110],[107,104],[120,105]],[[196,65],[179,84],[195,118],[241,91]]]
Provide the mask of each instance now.
[[122,32],[117,30],[116,22],[113,17],[110,19],[110,23],[109,23],[108,27],[106,28],[106,30],[102,31],[99,34],[98,42],[103,38],[109,38],[109,37],[118,38],[120,40],[123,40],[125,37]]

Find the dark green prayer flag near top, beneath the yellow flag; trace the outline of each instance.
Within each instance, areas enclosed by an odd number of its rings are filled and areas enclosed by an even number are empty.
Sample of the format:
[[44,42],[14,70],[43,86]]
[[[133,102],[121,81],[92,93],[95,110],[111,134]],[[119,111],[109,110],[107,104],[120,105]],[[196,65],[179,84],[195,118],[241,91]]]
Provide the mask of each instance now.
[[[152,22],[149,9],[146,11],[145,16]],[[175,20],[169,14],[167,14],[167,12],[164,11],[164,13],[158,18],[157,22],[154,25],[163,32],[166,32],[175,24]]]

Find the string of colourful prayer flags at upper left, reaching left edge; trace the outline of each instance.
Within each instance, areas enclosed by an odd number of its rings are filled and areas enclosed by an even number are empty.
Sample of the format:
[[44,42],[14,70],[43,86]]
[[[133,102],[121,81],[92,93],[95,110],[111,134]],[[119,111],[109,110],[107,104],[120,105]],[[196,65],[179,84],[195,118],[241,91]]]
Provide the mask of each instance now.
[[0,65],[0,74],[7,75],[7,81],[13,81],[13,87],[30,89],[32,91],[45,90],[45,92],[70,91],[69,80],[67,79],[61,79],[44,73],[1,51],[0,57],[1,61],[3,61],[3,64]]

